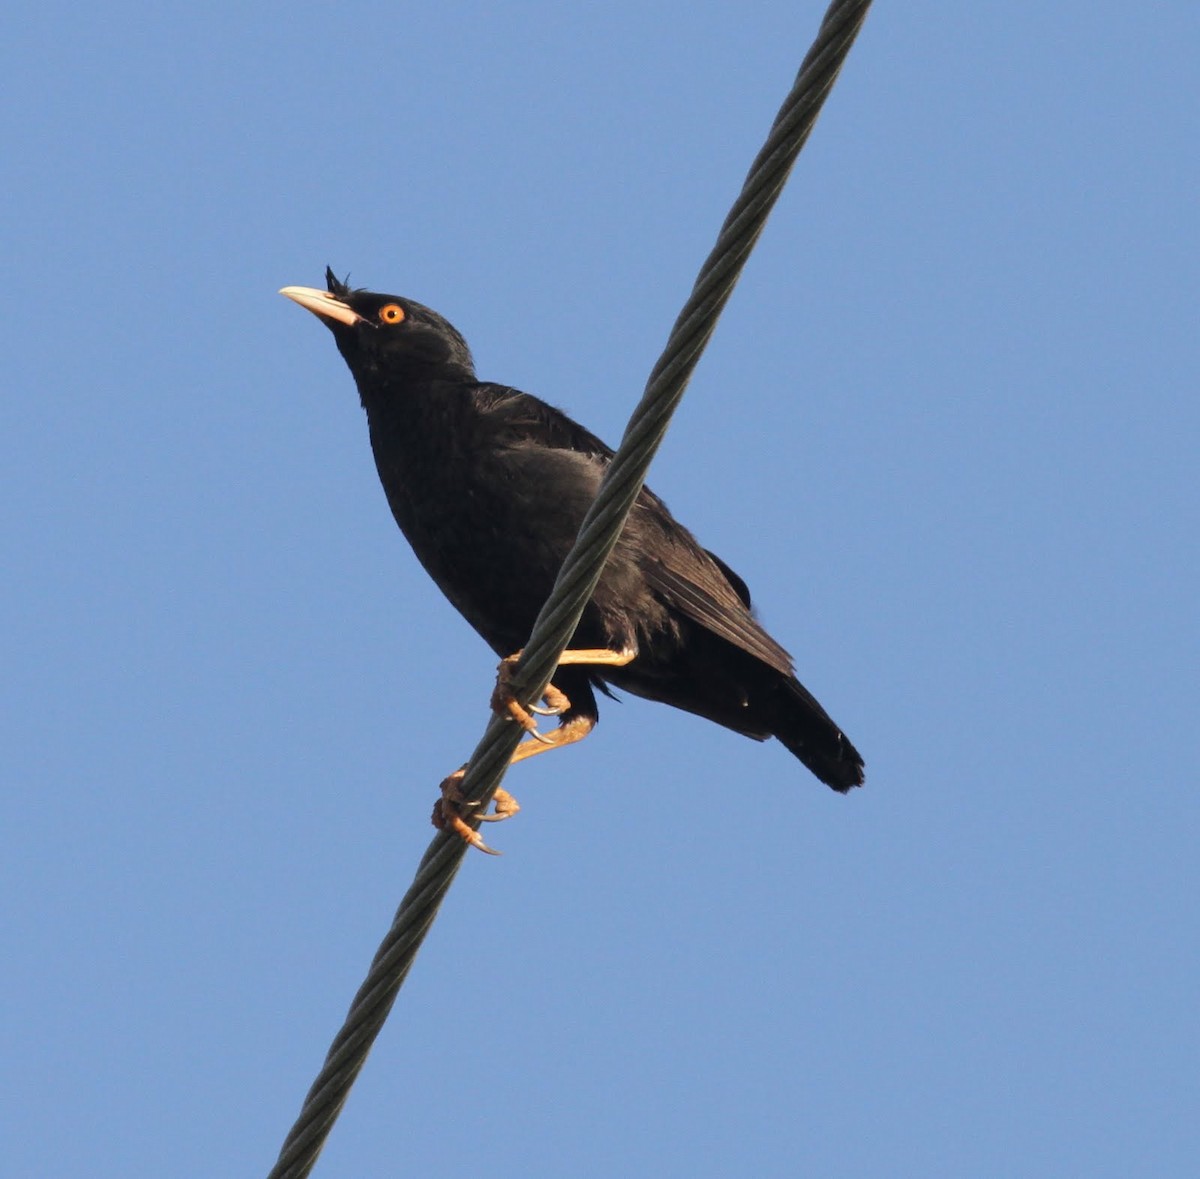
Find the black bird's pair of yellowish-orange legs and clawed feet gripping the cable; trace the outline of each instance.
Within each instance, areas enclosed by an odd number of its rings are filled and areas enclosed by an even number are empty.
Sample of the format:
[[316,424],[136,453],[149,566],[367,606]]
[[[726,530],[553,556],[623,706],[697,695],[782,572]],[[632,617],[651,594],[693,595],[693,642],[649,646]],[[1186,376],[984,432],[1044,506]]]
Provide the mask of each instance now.
[[[605,647],[564,651],[558,664],[559,666],[564,664],[587,664],[602,668],[623,668],[635,654],[635,651],[608,651]],[[520,658],[521,652],[518,651],[516,654],[509,656],[500,662],[496,676],[496,689],[492,692],[493,711],[506,713],[529,734],[529,737],[522,741],[512,752],[512,759],[509,761],[510,766],[515,766],[518,761],[526,761],[539,753],[547,753],[551,749],[560,749],[564,746],[575,744],[576,741],[582,741],[596,724],[595,717],[580,713],[559,722],[558,728],[553,732],[539,732],[538,723],[529,716],[529,711],[517,702],[510,687],[512,670]],[[553,717],[560,717],[570,711],[571,701],[568,699],[566,693],[553,684],[546,686],[541,699],[546,701],[546,707],[532,711]],[[461,784],[466,771],[467,767],[462,766],[442,783],[442,797],[433,804],[433,826],[439,831],[454,831],[472,846],[479,848],[480,851],[486,851],[492,856],[499,855],[499,852],[484,843],[478,831],[472,830],[467,822],[467,818],[474,818],[480,822],[499,822],[502,819],[510,819],[521,807],[508,790],[498,786],[492,795],[492,800],[496,803],[494,813],[490,815],[470,815],[469,812],[476,810],[478,804],[469,803],[462,796]]]

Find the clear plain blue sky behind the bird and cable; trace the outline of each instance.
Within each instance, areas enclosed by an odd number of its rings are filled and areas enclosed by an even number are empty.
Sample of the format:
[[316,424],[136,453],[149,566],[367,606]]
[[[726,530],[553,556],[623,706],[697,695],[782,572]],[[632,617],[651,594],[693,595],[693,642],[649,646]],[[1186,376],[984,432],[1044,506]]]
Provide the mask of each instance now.
[[[616,441],[818,4],[40,5],[0,48],[0,1139],[263,1174],[494,659],[276,295]],[[317,1174],[1186,1174],[1192,4],[876,6],[650,483],[868,762],[520,767]]]

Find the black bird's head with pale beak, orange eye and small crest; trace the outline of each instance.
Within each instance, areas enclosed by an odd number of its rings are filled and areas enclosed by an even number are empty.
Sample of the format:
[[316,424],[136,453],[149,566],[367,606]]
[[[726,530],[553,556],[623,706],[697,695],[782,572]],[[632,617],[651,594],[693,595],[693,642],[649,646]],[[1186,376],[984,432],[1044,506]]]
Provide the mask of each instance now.
[[352,291],[325,268],[325,291],[284,287],[287,295],[318,316],[365,393],[364,383],[473,379],[467,341],[436,311],[413,299]]

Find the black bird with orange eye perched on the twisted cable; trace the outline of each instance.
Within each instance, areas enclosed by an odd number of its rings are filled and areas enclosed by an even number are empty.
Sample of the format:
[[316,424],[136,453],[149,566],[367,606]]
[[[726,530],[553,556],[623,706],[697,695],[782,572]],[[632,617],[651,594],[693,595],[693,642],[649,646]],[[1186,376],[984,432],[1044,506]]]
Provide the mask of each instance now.
[[[544,700],[538,732],[508,676],[595,498],[613,451],[560,409],[480,381],[462,334],[401,295],[354,289],[325,269],[325,289],[283,287],[332,331],[366,411],[376,468],[418,561],[500,657],[493,708],[529,730],[512,761],[586,737],[596,692],[661,701],[756,741],[778,738],[846,794],[863,759],[797,680],[758,622],[745,581],[643,487]],[[457,777],[456,777],[457,776]],[[492,851],[444,783],[433,821]],[[490,820],[517,809],[506,791]],[[482,815],[474,818],[481,819]]]

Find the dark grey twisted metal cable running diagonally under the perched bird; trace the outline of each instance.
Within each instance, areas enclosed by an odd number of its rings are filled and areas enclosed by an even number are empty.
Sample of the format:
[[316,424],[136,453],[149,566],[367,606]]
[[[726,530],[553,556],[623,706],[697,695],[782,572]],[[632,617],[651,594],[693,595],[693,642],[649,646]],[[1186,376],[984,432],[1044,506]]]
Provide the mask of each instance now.
[[[792,91],[751,164],[716,245],[701,268],[662,355],[650,372],[642,400],[625,427],[595,502],[538,616],[512,677],[514,695],[522,704],[530,704],[546,689],[575,633],[608,552],[646,481],[671,415],[762,233],[767,215],[808,140],[870,2],[834,0],[826,12]],[[461,783],[468,800],[482,802],[494,794],[522,736],[520,726],[506,717],[492,717]],[[439,832],[421,857],[416,878],[396,910],[391,928],[350,1004],[346,1022],[305,1097],[269,1179],[304,1179],[312,1171],[467,850],[457,834]]]

